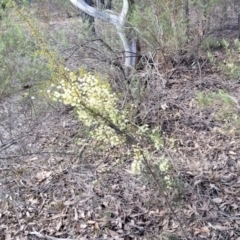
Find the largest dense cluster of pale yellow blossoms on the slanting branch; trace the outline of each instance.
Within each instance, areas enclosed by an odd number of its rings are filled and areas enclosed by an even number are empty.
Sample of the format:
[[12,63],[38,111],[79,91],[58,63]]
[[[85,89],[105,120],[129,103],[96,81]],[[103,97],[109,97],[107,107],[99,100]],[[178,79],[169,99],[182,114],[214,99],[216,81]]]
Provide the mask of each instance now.
[[124,131],[128,121],[117,109],[117,97],[109,83],[84,70],[74,73],[66,69],[64,76],[53,86],[52,99],[74,106],[80,121],[95,126],[91,134],[96,140],[110,146],[125,142],[125,136],[112,127]]

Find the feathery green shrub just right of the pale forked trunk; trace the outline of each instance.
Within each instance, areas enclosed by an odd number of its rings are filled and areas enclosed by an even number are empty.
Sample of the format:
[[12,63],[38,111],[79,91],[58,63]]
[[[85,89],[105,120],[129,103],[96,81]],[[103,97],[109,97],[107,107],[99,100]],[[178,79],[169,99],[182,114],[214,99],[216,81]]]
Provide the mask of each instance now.
[[148,47],[160,47],[171,53],[187,39],[186,23],[180,8],[181,5],[162,0],[153,0],[151,4],[139,1],[130,16],[130,22]]

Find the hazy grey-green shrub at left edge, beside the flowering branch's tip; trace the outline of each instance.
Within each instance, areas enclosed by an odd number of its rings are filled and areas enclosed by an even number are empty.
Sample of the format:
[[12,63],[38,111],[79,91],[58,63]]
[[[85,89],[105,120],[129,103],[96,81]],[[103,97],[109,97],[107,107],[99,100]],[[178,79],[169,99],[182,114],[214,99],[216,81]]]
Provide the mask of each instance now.
[[[5,13],[0,24],[0,89],[5,94],[25,86],[36,86],[49,78],[50,71],[26,25],[13,10]],[[39,87],[39,86],[38,86]]]

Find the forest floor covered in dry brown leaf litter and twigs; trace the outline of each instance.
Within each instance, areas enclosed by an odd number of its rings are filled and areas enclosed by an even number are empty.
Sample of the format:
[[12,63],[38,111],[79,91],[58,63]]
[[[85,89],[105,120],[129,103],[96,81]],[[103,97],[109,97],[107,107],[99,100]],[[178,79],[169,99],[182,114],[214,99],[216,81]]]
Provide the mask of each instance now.
[[[232,41],[237,29],[233,17],[217,37]],[[222,49],[214,56],[224,62]],[[74,68],[76,58],[67,64]],[[21,92],[2,98],[0,239],[239,240],[240,82],[204,59],[172,70],[164,83],[154,75],[157,87],[147,82],[152,94],[140,106],[144,121],[160,126],[181,183],[168,196],[171,208],[147,178],[130,173],[130,159],[116,164],[114,152],[77,143],[86,133],[71,108]],[[216,97],[221,90],[230,107]],[[200,106],[199,92],[216,98]]]

